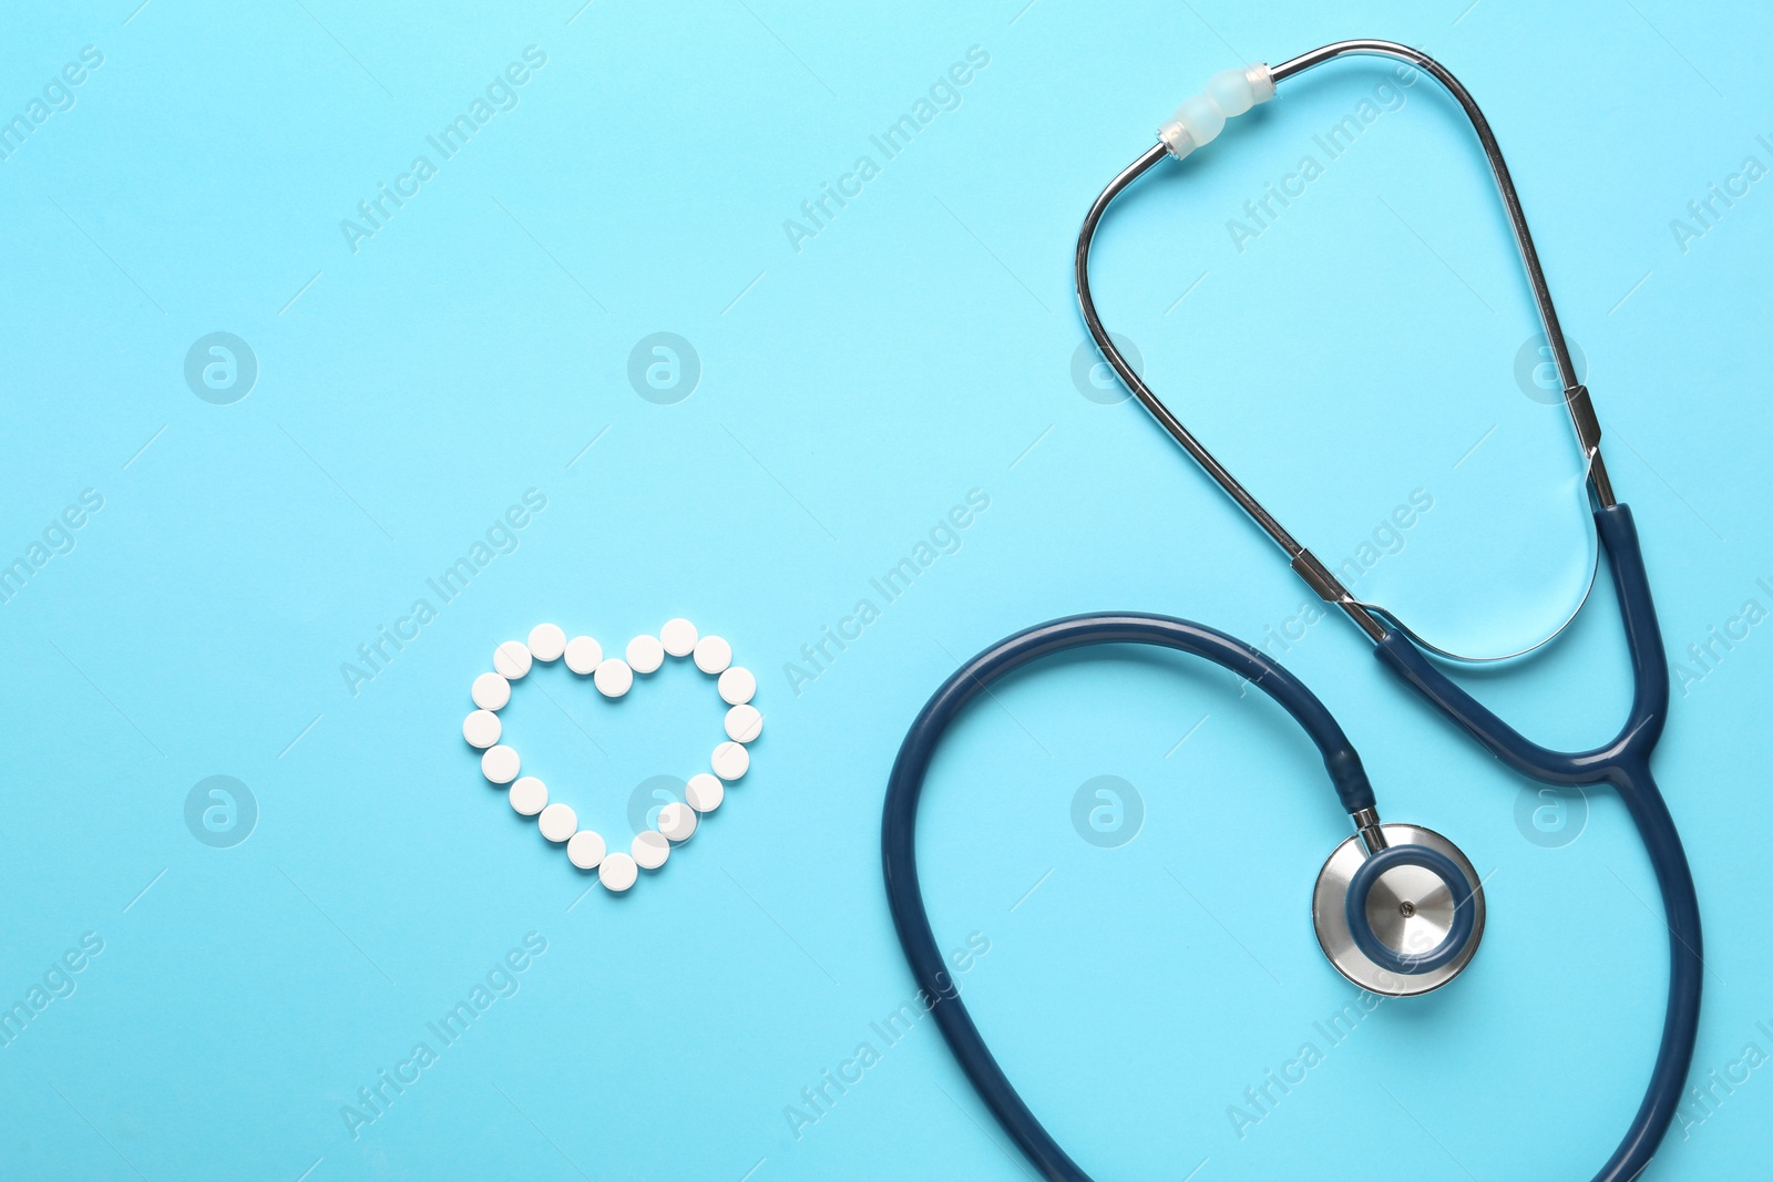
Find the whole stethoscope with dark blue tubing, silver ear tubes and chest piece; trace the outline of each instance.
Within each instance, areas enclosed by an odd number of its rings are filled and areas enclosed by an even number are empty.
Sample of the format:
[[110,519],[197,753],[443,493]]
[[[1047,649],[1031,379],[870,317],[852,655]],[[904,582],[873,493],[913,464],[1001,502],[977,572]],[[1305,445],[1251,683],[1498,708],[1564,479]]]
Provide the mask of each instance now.
[[[1090,299],[1090,239],[1108,206],[1165,156],[1184,158],[1213,140],[1227,117],[1241,115],[1275,94],[1275,85],[1346,55],[1390,57],[1415,66],[1438,80],[1464,108],[1479,144],[1489,158],[1496,190],[1507,209],[1519,245],[1534,303],[1544,324],[1546,342],[1564,381],[1564,404],[1576,427],[1576,441],[1587,461],[1589,500],[1594,526],[1606,551],[1608,569],[1619,595],[1626,645],[1631,652],[1635,691],[1631,712],[1619,735],[1587,751],[1553,751],[1532,743],[1496,718],[1488,707],[1454,684],[1424,652],[1433,649],[1388,611],[1356,601],[1347,588],[1220,464],[1179,418],[1151,392],[1128,365],[1103,328]],[[1390,41],[1340,41],[1269,69],[1250,66],[1215,76],[1206,94],[1181,105],[1163,124],[1160,142],[1108,183],[1090,206],[1078,234],[1076,276],[1083,323],[1096,338],[1103,358],[1121,381],[1151,411],[1165,431],[1209,477],[1266,532],[1287,555],[1293,569],[1326,603],[1335,604],[1372,640],[1379,659],[1427,698],[1447,718],[1463,727],[1504,764],[1548,785],[1610,785],[1624,801],[1649,851],[1661,888],[1668,925],[1668,1008],[1663,1019],[1661,1047],[1651,1070],[1649,1088],[1636,1116],[1594,1182],[1626,1182],[1649,1164],[1681,1102],[1681,1086],[1693,1058],[1699,1028],[1700,932],[1693,874],[1681,849],[1674,819],[1651,778],[1651,750],[1661,737],[1668,712],[1668,666],[1661,631],[1651,604],[1649,579],[1638,546],[1631,510],[1613,500],[1613,487],[1601,463],[1601,427],[1594,416],[1589,390],[1578,381],[1571,363],[1551,292],[1534,252],[1532,234],[1521,213],[1514,183],[1502,159],[1502,149],[1484,113],[1459,80],[1440,62]],[[886,785],[886,810],[881,822],[881,852],[886,870],[886,895],[906,959],[922,989],[933,999],[933,1014],[949,1047],[966,1070],[979,1095],[1016,1139],[1043,1177],[1057,1182],[1089,1182],[1041,1122],[1028,1111],[991,1051],[986,1049],[966,1007],[959,999],[941,952],[924,911],[917,881],[917,801],[931,757],[961,709],[991,682],[1032,661],[1089,645],[1156,645],[1206,657],[1232,670],[1278,702],[1310,735],[1323,753],[1324,769],[1353,820],[1355,833],[1330,854],[1312,893],[1312,921],[1330,964],[1362,989],[1385,996],[1411,996],[1445,985],[1457,976],[1484,932],[1484,888],[1477,870],[1459,849],[1420,826],[1383,824],[1372,785],[1360,757],[1342,728],[1296,677],[1250,645],[1211,627],[1174,617],[1144,613],[1076,615],[1039,624],[1009,636],[963,665],[924,705],[899,748]],[[1449,654],[1441,654],[1449,656]]]

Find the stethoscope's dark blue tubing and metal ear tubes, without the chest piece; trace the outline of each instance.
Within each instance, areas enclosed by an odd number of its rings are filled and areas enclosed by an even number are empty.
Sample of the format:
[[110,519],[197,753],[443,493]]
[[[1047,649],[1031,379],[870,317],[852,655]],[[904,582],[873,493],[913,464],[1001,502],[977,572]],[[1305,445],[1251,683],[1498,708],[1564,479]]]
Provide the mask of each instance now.
[[[1222,113],[1238,113],[1248,110],[1252,103],[1266,101],[1266,97],[1257,94],[1257,83],[1264,83],[1266,96],[1271,97],[1275,87],[1284,80],[1351,55],[1394,58],[1429,73],[1459,103],[1489,161],[1504,213],[1519,246],[1546,342],[1557,362],[1558,376],[1564,381],[1564,406],[1569,411],[1576,441],[1587,463],[1587,486],[1594,505],[1596,533],[1608,555],[1621,617],[1624,620],[1626,643],[1631,654],[1631,711],[1624,728],[1612,743],[1589,751],[1553,751],[1521,735],[1456,686],[1418,647],[1425,642],[1420,642],[1388,613],[1355,601],[1335,574],[1287,533],[1255,496],[1213,457],[1121,354],[1101,317],[1096,314],[1094,299],[1090,298],[1090,241],[1108,204],[1121,191],[1165,159],[1167,154],[1186,154],[1177,151],[1181,140],[1172,142],[1172,138],[1160,135],[1160,144],[1147,149],[1133,165],[1110,181],[1108,188],[1096,198],[1096,204],[1090,206],[1090,211],[1083,218],[1076,246],[1078,305],[1096,347],[1113,367],[1126,388],[1239,509],[1282,548],[1294,572],[1326,603],[1340,608],[1360,626],[1372,640],[1379,659],[1392,672],[1402,677],[1447,718],[1459,723],[1496,758],[1521,774],[1558,787],[1610,785],[1624,801],[1649,852],[1651,867],[1656,872],[1668,927],[1668,1008],[1663,1019],[1661,1046],[1656,1053],[1644,1102],[1638,1106],[1619,1148],[1613,1150],[1613,1155],[1601,1171],[1594,1175],[1594,1182],[1629,1182],[1649,1166],[1656,1147],[1668,1131],[1668,1122],[1679,1108],[1681,1088],[1693,1061],[1693,1046],[1699,1035],[1700,978],[1704,973],[1699,900],[1693,891],[1693,874],[1686,863],[1686,852],[1681,849],[1674,819],[1661,792],[1656,789],[1656,782],[1651,778],[1649,767],[1651,750],[1661,737],[1668,714],[1668,670],[1661,631],[1651,603],[1649,579],[1644,571],[1644,553],[1638,544],[1636,526],[1631,521],[1631,510],[1617,503],[1613,496],[1612,480],[1601,459],[1601,425],[1596,418],[1589,390],[1582,385],[1569,346],[1564,340],[1551,291],[1546,285],[1544,269],[1539,266],[1539,253],[1534,248],[1527,216],[1496,136],[1472,94],[1445,66],[1420,50],[1411,50],[1394,41],[1339,41],[1282,62],[1273,69],[1255,66],[1248,71],[1229,71],[1209,83],[1206,97],[1197,96],[1186,101],[1177,110],[1172,124],[1174,128],[1183,128],[1183,138],[1190,138],[1199,131],[1199,144],[1206,144],[1223,126],[1223,119],[1215,122],[1211,113],[1204,113],[1206,108],[1202,103],[1206,99],[1211,99],[1207,106],[1220,105],[1220,99],[1225,99],[1234,110]],[[1167,124],[1167,129],[1174,128]],[[1193,140],[1190,138],[1190,142]],[[1188,151],[1193,149],[1190,147]],[[906,734],[886,787],[881,854],[894,923],[913,975],[929,996],[936,999],[931,1012],[936,1015],[943,1037],[973,1081],[973,1086],[1028,1159],[1046,1178],[1058,1182],[1089,1182],[1089,1178],[1053,1138],[1048,1136],[1041,1122],[1035,1120],[1021,1097],[1016,1095],[1009,1079],[1004,1077],[1002,1069],[991,1058],[984,1040],[979,1037],[979,1030],[968,1017],[966,1007],[956,994],[954,982],[943,969],[917,883],[917,801],[936,743],[975,693],[991,680],[1050,652],[1105,643],[1161,645],[1202,656],[1243,673],[1280,702],[1305,727],[1314,743],[1317,743],[1344,806],[1349,801],[1365,799],[1371,808],[1372,801],[1372,789],[1365,780],[1365,773],[1360,771],[1360,760],[1347,748],[1347,739],[1303,684],[1248,645],[1209,627],[1170,617],[1135,613],[1090,615],[1041,624],[973,657],[926,704],[910,734]],[[1349,812],[1355,810],[1351,808]],[[1410,971],[1410,966],[1401,966],[1401,971]]]

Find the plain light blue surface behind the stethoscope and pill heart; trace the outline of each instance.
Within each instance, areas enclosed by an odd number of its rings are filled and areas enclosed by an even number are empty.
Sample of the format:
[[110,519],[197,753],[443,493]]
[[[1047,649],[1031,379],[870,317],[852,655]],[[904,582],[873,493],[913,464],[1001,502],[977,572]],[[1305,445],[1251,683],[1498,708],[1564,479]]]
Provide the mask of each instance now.
[[[871,1026],[913,991],[883,782],[954,663],[1021,626],[1140,608],[1261,640],[1307,601],[1133,406],[1071,377],[1078,220],[1232,64],[1379,35],[1466,82],[1590,362],[1672,656],[1773,608],[1773,181],[1684,250],[1670,230],[1746,156],[1773,165],[1757,5],[133,4],[0,18],[0,115],[105,55],[0,161],[0,560],[105,498],[0,606],[0,999],[103,939],[0,1047],[7,1177],[1027,1177],[931,1023],[895,1046]],[[525,46],[546,66],[516,108],[353,253],[340,220]],[[970,46],[989,66],[959,106],[876,154]],[[1243,252],[1225,225],[1388,78],[1316,71],[1160,168],[1103,232],[1097,294],[1326,556],[1434,498],[1356,590],[1449,634],[1530,634],[1587,540],[1562,413],[1516,381],[1532,314],[1456,108],[1397,90]],[[784,220],[860,154],[879,175],[796,250]],[[211,331],[259,362],[232,406],[183,377]],[[628,383],[654,331],[700,356],[674,406]],[[546,510],[516,551],[353,695],[340,663],[527,489]],[[959,551],[796,693],[784,666],[970,489],[989,509]],[[613,649],[672,615],[759,672],[766,735],[660,874],[587,895],[482,782],[466,688],[539,620]],[[1690,665],[1658,757],[1709,936],[1695,1083],[1773,1054],[1769,636]],[[989,939],[963,987],[993,1047],[1101,1178],[1589,1177],[1663,1007],[1622,810],[1596,796],[1578,840],[1537,845],[1532,789],[1344,622],[1275,652],[1386,817],[1489,875],[1470,973],[1381,1005],[1239,1139],[1229,1106],[1355,998],[1307,918],[1346,820],[1303,739],[1225,677],[1069,661],[972,714],[926,797],[933,920]],[[1585,746],[1626,679],[1603,583],[1546,656],[1477,682]],[[626,840],[631,790],[702,767],[718,702],[683,665],[617,705],[573,680],[521,684],[509,734]],[[211,774],[257,799],[232,849],[184,824]],[[1071,824],[1099,774],[1144,799],[1119,849]],[[528,932],[546,953],[519,991],[353,1138],[340,1108]],[[785,1109],[862,1042],[879,1061],[796,1136]],[[1773,1069],[1713,1097],[1656,1178],[1762,1168]]]

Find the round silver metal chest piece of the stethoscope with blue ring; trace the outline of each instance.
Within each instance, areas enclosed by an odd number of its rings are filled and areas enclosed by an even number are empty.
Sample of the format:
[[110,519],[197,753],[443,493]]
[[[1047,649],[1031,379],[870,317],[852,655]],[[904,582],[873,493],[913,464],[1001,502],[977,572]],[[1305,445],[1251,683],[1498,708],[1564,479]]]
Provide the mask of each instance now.
[[1335,971],[1386,998],[1440,989],[1484,937],[1484,888],[1459,847],[1434,829],[1385,824],[1385,847],[1351,835],[1324,861],[1312,927]]

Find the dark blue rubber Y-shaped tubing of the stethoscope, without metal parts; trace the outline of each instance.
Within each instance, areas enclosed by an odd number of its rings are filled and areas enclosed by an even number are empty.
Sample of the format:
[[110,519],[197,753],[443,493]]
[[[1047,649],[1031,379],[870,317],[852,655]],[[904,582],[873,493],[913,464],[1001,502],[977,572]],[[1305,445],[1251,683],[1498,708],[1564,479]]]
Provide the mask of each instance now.
[[[1376,645],[1379,659],[1394,673],[1463,727],[1498,760],[1521,774],[1558,787],[1610,785],[1624,801],[1638,835],[1644,838],[1656,883],[1661,888],[1668,925],[1668,1008],[1644,1102],[1619,1148],[1594,1175],[1594,1182],[1629,1182],[1649,1166],[1681,1102],[1681,1088],[1699,1037],[1704,966],[1693,874],[1681,847],[1674,817],[1668,813],[1649,767],[1651,750],[1661,737],[1668,712],[1668,666],[1656,610],[1651,603],[1644,553],[1631,510],[1626,505],[1597,509],[1596,530],[1613,576],[1635,680],[1629,718],[1612,743],[1589,751],[1553,751],[1539,746],[1456,686],[1401,631],[1388,631]],[[1175,649],[1206,657],[1248,679],[1278,702],[1317,744],[1342,806],[1351,813],[1372,806],[1372,787],[1362,769],[1360,757],[1312,691],[1250,645],[1188,620],[1108,613],[1076,615],[1039,624],[1000,640],[975,656],[929,698],[911,723],[886,782],[886,806],[881,820],[886,898],[911,975],[933,999],[931,1014],[936,1017],[954,1058],[1004,1131],[1041,1171],[1041,1177],[1051,1182],[1090,1182],[1090,1178],[1058,1147],[1018,1095],[986,1047],[959,998],[954,978],[947,971],[917,877],[917,805],[943,732],[966,704],[991,682],[1030,661],[1067,649],[1122,643]]]

